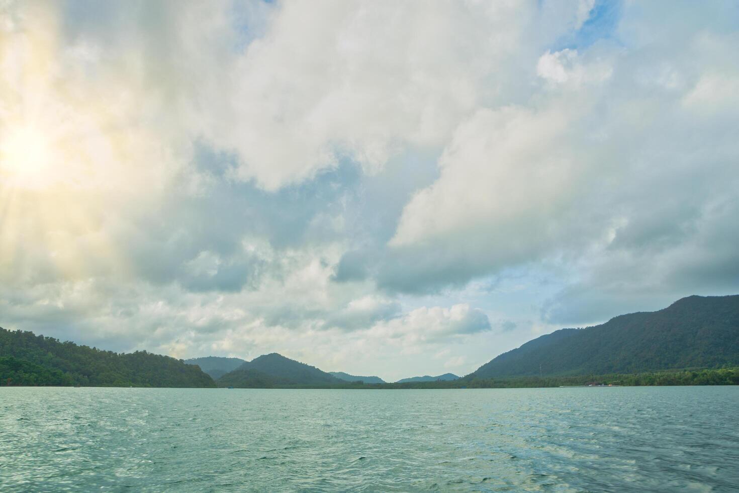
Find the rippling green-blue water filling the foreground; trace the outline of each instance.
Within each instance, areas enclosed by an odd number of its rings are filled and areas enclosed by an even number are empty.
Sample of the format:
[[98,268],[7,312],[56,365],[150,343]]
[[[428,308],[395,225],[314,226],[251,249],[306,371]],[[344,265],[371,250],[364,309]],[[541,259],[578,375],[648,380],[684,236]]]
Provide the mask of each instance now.
[[738,492],[739,387],[4,387],[0,491]]

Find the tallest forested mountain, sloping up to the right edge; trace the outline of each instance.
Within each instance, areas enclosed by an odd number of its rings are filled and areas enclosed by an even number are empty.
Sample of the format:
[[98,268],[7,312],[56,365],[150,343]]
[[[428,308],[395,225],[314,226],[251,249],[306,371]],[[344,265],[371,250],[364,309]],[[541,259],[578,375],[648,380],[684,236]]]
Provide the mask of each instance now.
[[655,312],[562,329],[503,353],[467,378],[638,373],[739,366],[739,295],[689,296]]

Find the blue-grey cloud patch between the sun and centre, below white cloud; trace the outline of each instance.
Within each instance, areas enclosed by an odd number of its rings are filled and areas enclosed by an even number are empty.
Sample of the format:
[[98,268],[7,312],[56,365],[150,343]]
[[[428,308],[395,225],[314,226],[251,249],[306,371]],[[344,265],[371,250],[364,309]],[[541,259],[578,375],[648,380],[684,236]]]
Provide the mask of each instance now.
[[[267,192],[228,177],[231,157],[200,149],[200,172],[209,174],[204,193],[174,193],[157,211],[134,210],[115,226],[123,254],[137,275],[157,284],[180,282],[185,288],[255,288],[265,272],[279,272],[279,259],[266,260],[244,250],[245,240],[263,241],[282,251],[336,242],[346,234],[319,217],[341,217],[344,196],[358,180],[347,164],[315,180]],[[203,253],[219,257],[213,273],[192,272]]]

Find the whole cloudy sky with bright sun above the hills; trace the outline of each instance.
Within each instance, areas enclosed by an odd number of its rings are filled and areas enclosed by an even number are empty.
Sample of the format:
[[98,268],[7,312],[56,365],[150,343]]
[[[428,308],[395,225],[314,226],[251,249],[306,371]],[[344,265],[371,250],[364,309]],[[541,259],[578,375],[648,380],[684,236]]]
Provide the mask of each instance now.
[[464,375],[739,293],[735,1],[0,0],[0,326]]

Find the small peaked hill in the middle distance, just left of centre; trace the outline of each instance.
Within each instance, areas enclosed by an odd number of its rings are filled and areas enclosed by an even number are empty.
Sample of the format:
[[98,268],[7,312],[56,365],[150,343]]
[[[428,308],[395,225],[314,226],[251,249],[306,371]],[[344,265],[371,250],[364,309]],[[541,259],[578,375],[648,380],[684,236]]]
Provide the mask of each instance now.
[[270,353],[246,361],[236,370],[218,379],[221,387],[279,387],[290,385],[325,386],[344,384],[330,373],[316,367]]

